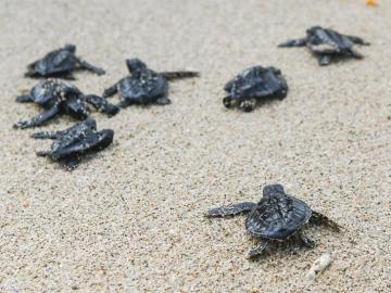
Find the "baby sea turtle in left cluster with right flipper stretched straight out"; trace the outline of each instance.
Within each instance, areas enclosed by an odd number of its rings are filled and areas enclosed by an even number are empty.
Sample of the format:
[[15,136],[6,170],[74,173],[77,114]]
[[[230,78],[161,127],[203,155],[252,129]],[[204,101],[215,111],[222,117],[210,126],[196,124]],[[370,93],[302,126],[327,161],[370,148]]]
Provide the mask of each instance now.
[[103,93],[103,97],[111,97],[116,92],[119,92],[121,107],[133,104],[169,104],[171,100],[167,98],[168,81],[199,76],[199,73],[197,72],[156,73],[148,68],[146,63],[139,59],[128,59],[126,60],[126,65],[130,75],[122,78]]

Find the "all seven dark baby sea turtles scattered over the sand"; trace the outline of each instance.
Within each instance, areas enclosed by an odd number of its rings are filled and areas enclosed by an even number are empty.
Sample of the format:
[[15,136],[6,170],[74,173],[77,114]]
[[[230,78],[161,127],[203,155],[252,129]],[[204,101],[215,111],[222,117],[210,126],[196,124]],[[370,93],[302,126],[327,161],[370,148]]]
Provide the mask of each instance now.
[[[355,44],[369,43],[360,37],[314,26],[306,30],[306,37],[288,40],[278,47],[306,46],[319,65],[328,65],[332,60],[341,58],[362,59],[363,55],[354,49]],[[48,156],[70,170],[76,168],[87,153],[103,150],[113,142],[114,131],[98,131],[96,120],[89,118],[89,105],[109,116],[129,105],[166,105],[171,103],[168,81],[199,76],[198,72],[189,71],[159,73],[148,68],[139,59],[128,59],[126,66],[129,75],[106,88],[102,95],[85,94],[61,79],[75,79],[72,75],[75,71],[85,69],[98,75],[105,71],[81,60],[75,53],[76,47],[66,44],[27,66],[26,77],[47,79],[38,82],[28,93],[18,95],[16,102],[34,102],[45,111],[14,125],[21,129],[38,127],[63,114],[80,120],[62,131],[41,131],[31,136],[35,139],[52,139],[51,149],[38,152],[37,155]],[[226,107],[237,106],[243,112],[251,112],[258,102],[286,98],[288,85],[280,69],[256,65],[238,74],[225,85],[224,90],[227,92],[223,99]],[[119,103],[112,104],[106,98],[115,93],[119,93],[121,100]],[[311,209],[303,201],[288,195],[280,184],[264,187],[263,198],[258,203],[243,202],[212,208],[206,213],[206,217],[232,217],[240,214],[248,215],[245,228],[249,233],[261,239],[260,244],[250,251],[250,258],[261,255],[273,241],[294,238],[304,246],[314,247],[314,242],[302,232],[307,222],[340,230],[338,224]]]

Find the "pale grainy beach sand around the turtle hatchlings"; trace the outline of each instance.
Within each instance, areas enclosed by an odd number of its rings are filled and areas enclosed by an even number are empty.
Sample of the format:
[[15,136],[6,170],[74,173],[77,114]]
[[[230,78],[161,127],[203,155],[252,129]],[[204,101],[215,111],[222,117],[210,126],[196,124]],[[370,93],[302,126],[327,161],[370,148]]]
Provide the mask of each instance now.
[[[363,2],[1,0],[0,291],[390,292],[391,2]],[[276,48],[315,24],[373,44],[362,61],[321,68],[305,49]],[[169,106],[93,113],[115,143],[68,173],[35,155],[50,145],[35,130],[12,129],[39,111],[14,102],[37,82],[25,66],[66,42],[108,71],[78,73],[86,92],[124,76],[129,56],[202,77],[172,84]],[[279,67],[288,98],[224,109],[224,84],[254,64]],[[344,231],[312,228],[314,250],[249,262],[243,218],[203,213],[257,201],[273,182]],[[324,253],[331,266],[307,281]]]

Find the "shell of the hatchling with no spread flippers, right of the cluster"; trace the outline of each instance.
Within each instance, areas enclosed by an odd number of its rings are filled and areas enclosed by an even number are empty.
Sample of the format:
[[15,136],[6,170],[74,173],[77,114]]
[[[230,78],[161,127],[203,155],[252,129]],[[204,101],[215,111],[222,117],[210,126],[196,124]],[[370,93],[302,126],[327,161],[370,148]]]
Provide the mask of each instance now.
[[279,69],[260,65],[243,71],[224,89],[237,100],[274,95],[283,99],[288,92],[287,81]]

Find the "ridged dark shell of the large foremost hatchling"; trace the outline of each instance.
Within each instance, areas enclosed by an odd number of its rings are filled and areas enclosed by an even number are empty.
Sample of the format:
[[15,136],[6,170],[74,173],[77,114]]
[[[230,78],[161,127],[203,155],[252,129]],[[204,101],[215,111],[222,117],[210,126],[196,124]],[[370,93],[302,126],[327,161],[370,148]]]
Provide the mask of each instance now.
[[306,224],[311,216],[312,209],[303,201],[283,191],[272,192],[264,194],[249,214],[245,228],[251,234],[282,241]]

